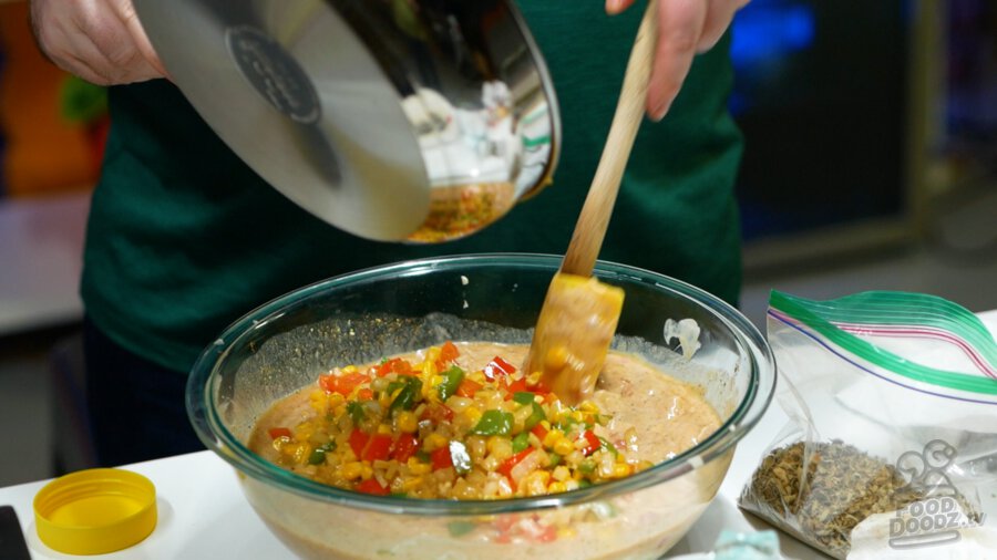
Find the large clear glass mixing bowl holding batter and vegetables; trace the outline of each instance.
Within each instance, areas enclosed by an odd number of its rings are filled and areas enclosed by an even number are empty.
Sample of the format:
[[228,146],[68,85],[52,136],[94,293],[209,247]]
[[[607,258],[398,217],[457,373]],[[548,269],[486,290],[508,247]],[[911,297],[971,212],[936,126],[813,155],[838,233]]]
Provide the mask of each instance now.
[[[246,446],[271,404],[333,366],[446,340],[528,344],[559,263],[538,255],[425,259],[288,293],[234,323],[204,351],[187,385],[191,421],[208,448],[236,468],[256,512],[305,558],[657,558],[707,508],[736,443],[758,422],[775,383],[771,350],[743,315],[661,274],[598,263],[595,274],[626,292],[614,348],[701,386],[722,425],[647,470],[542,497],[419,500],[321,485]],[[666,340],[669,319],[698,323],[701,348],[691,359],[676,340]],[[516,538],[492,530],[516,523],[523,529]],[[531,528],[552,525],[561,528],[555,538],[530,537]]]

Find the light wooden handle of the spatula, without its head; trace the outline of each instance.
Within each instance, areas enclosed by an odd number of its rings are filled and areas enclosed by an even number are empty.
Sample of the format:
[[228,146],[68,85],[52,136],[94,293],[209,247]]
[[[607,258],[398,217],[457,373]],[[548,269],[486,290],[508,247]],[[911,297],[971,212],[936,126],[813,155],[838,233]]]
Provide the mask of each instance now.
[[657,4],[657,0],[650,0],[640,21],[599,166],[561,263],[563,272],[592,276],[606,237],[606,227],[609,225],[624,169],[644,117],[647,82],[658,37]]

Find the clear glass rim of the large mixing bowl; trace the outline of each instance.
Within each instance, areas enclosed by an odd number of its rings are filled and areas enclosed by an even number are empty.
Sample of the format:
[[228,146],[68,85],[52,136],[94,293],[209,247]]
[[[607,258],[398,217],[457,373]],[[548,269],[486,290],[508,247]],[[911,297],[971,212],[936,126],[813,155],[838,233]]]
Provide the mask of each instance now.
[[[327,291],[382,278],[397,278],[453,269],[469,270],[476,267],[514,265],[517,268],[559,269],[562,257],[526,252],[487,252],[412,259],[331,277],[298,288],[249,311],[209,344],[198,356],[187,380],[185,401],[187,416],[197,436],[216,455],[236,470],[249,477],[269,483],[282,490],[326,502],[391,514],[420,515],[495,515],[516,511],[567,507],[596,499],[655,486],[702,467],[732,448],[756,424],[772,401],[777,373],[771,348],[758,328],[740,311],[719,298],[681,280],[649,270],[597,261],[594,276],[613,283],[614,279],[654,281],[664,288],[700,303],[727,325],[731,334],[747,349],[750,359],[750,380],[744,397],[723,424],[702,442],[685,452],[626,478],[600,483],[577,490],[523,498],[493,500],[448,500],[371,496],[314,481],[282,467],[274,465],[238,440],[224,425],[219,412],[213,405],[217,364],[241,336],[279,319],[288,307],[306,301]],[[210,404],[210,406],[208,405]]]

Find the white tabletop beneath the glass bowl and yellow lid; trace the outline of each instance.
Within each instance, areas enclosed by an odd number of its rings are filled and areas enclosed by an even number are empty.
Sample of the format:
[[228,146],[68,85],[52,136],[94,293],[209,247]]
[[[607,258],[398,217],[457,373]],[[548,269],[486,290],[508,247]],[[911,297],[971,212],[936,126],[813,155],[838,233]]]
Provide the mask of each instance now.
[[[997,310],[980,314],[997,332]],[[730,471],[720,491],[702,518],[669,552],[678,556],[711,549],[723,529],[752,531],[769,526],[744,515],[737,498],[758,460],[782,429],[785,415],[772,405],[738,445]],[[147,559],[227,559],[275,560],[292,554],[270,535],[243,497],[235,471],[212,452],[181,455],[129,465],[155,485],[158,495],[160,522],[141,543],[112,554],[86,557],[100,560]],[[0,505],[13,505],[34,560],[66,560],[73,557],[54,552],[38,538],[31,502],[47,480],[0,488]],[[790,560],[825,560],[809,547],[780,533],[782,553]]]

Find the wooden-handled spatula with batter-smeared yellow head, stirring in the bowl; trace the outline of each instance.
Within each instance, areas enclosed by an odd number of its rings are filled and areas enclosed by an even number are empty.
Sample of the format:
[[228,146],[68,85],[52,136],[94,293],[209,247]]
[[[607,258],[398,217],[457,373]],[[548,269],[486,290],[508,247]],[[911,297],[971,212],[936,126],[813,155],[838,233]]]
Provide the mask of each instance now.
[[592,271],[645,113],[657,43],[656,8],[657,1],[650,0],[637,31],[599,165],[526,356],[526,372],[541,372],[544,385],[569,405],[595,391],[623,309],[624,291],[599,283]]

